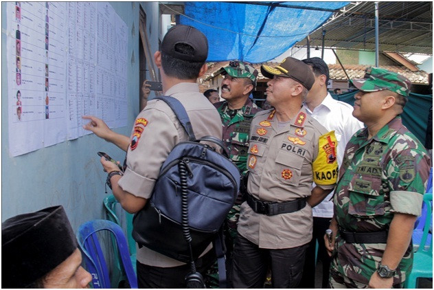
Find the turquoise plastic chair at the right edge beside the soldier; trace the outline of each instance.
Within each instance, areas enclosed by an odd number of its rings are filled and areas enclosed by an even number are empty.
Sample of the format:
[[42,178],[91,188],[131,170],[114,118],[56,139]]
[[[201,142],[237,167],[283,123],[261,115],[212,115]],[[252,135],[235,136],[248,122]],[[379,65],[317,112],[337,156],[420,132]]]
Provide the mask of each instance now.
[[[418,278],[433,278],[433,236],[429,235],[431,221],[433,219],[433,209],[431,208],[433,194],[424,194],[424,203],[426,207],[426,215],[424,223],[424,232],[420,241],[420,245],[425,245],[429,239],[429,248],[419,247],[418,251],[413,256],[413,269],[405,280],[405,288],[417,288]],[[421,221],[422,223],[422,221]]]

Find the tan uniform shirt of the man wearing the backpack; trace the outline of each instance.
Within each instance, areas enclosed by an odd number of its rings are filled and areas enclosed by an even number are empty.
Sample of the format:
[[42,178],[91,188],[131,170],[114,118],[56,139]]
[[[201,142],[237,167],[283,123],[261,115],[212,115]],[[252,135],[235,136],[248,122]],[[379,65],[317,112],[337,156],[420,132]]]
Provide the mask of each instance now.
[[[165,93],[183,104],[192,122],[194,135],[201,138],[222,136],[222,122],[216,108],[199,92],[196,83],[183,82]],[[119,186],[136,197],[149,199],[159,170],[172,148],[188,136],[176,115],[162,100],[150,100],[139,113],[131,133],[131,144],[126,155],[124,176]],[[184,263],[168,258],[146,247],[137,247],[137,260],[145,265],[175,267]]]

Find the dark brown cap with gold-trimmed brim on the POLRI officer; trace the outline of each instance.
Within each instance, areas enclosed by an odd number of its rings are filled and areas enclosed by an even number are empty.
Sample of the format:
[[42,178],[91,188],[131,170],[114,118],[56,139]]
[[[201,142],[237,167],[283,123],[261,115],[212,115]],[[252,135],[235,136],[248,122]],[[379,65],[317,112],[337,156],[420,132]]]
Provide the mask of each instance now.
[[291,57],[285,58],[282,63],[276,67],[262,65],[261,73],[266,78],[273,78],[273,76],[292,78],[301,83],[306,89],[312,89],[312,85],[315,82],[312,69],[301,60]]

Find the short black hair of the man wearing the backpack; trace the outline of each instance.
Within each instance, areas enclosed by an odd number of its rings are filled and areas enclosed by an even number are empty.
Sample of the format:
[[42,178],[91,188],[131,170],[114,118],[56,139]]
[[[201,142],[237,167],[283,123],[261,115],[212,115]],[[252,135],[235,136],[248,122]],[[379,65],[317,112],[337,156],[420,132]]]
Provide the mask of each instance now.
[[[177,43],[175,45],[175,51],[182,54],[193,55],[194,48],[185,43]],[[192,78],[198,78],[199,72],[203,63],[192,63],[188,60],[181,60],[168,56],[164,52],[161,52],[161,65],[163,66],[164,73],[167,76],[179,78],[180,80],[190,80]]]

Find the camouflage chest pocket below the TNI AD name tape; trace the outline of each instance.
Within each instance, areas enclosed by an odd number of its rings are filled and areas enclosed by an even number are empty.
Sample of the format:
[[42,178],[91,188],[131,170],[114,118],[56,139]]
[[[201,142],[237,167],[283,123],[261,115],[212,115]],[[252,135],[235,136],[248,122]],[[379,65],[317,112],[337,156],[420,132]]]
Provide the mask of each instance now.
[[356,175],[352,178],[348,190],[350,195],[348,213],[352,216],[372,218],[385,214],[381,179]]

